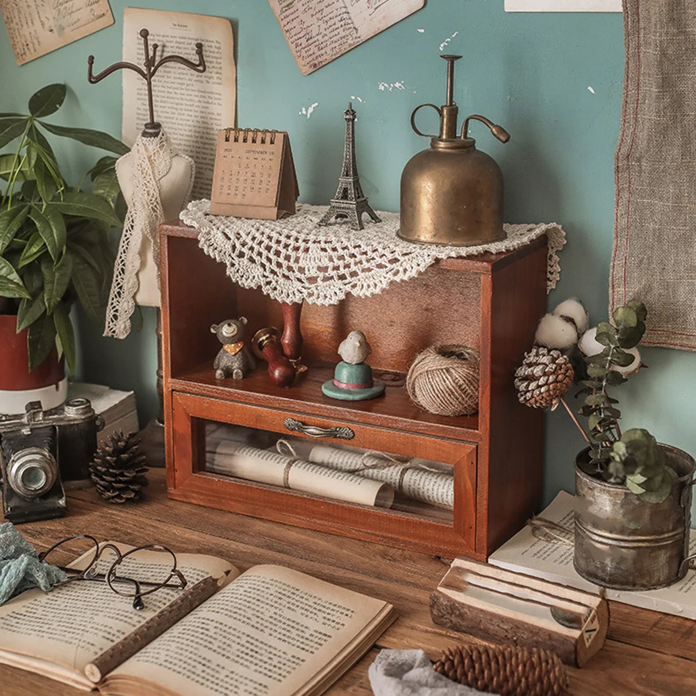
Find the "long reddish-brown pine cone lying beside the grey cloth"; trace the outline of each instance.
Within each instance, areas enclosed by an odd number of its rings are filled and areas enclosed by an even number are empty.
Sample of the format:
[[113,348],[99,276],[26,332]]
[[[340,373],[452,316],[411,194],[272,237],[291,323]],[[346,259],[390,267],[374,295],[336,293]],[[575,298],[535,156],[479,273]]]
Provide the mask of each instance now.
[[539,648],[459,645],[446,649],[434,669],[452,681],[500,696],[561,696],[568,688],[558,656]]

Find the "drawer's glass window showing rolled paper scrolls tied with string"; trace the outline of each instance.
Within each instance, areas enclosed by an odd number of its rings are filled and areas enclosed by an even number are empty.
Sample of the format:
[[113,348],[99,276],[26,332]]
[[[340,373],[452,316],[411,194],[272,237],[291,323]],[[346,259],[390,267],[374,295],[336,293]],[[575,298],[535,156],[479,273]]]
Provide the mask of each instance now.
[[452,524],[454,466],[340,439],[196,419],[199,471]]

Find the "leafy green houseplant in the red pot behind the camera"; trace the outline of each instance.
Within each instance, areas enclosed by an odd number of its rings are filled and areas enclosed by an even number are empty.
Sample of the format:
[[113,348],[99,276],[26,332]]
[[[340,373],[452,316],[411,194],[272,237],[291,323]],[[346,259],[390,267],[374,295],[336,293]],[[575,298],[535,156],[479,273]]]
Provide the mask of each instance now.
[[104,322],[109,233],[122,225],[116,157],[102,157],[68,184],[42,131],[116,155],[128,148],[106,133],[47,122],[65,93],[65,85],[52,84],[31,97],[28,114],[0,113],[0,150],[17,141],[0,155],[0,395],[58,383],[63,358],[74,372],[75,300]]

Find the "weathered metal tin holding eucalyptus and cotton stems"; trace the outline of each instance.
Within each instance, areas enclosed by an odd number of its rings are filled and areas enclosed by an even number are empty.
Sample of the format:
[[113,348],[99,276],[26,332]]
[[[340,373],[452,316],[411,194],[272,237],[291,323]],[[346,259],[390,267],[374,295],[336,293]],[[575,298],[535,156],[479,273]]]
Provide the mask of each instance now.
[[655,590],[686,575],[691,523],[690,454],[660,445],[679,475],[662,503],[645,503],[626,487],[586,474],[576,457],[574,566],[580,576],[612,590]]

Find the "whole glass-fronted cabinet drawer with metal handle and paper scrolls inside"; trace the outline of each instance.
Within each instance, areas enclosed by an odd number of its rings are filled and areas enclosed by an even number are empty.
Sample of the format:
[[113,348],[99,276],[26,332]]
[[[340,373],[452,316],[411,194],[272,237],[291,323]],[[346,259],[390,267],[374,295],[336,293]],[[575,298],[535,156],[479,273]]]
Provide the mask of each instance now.
[[473,443],[176,391],[171,416],[173,498],[439,555],[475,555]]

